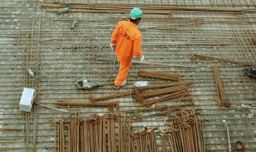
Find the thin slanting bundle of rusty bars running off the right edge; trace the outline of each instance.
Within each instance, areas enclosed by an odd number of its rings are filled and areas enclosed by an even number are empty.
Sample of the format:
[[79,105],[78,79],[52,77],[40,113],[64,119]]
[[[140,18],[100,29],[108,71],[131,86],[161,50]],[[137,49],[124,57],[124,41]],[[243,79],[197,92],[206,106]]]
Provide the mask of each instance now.
[[232,64],[240,64],[242,66],[256,66],[256,64],[254,63],[248,63],[248,62],[243,62],[243,61],[234,61],[231,59],[223,59],[223,58],[219,58],[219,57],[211,57],[208,55],[197,55],[197,54],[192,54],[192,61],[196,58],[201,58],[201,59],[212,59],[212,60],[217,60],[217,61],[223,61],[223,62],[229,62]]

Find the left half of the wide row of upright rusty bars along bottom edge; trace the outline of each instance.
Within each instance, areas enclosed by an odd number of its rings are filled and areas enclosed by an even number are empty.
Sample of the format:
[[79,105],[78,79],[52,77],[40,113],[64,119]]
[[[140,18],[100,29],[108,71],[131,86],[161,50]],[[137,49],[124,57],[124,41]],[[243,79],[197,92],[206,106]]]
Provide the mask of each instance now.
[[77,113],[64,120],[54,121],[54,124],[57,139],[55,151],[122,152],[127,149],[123,116],[92,115],[88,119],[82,119]]

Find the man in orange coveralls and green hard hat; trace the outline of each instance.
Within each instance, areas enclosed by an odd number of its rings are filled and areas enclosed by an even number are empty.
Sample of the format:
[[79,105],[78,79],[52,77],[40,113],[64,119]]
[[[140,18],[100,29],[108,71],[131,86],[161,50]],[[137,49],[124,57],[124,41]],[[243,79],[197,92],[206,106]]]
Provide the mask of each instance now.
[[120,68],[116,80],[115,88],[125,86],[131,59],[136,56],[141,62],[144,61],[144,55],[141,51],[142,35],[137,25],[143,17],[140,8],[133,8],[129,13],[129,21],[120,21],[111,36],[111,48],[116,49],[116,56],[120,61]]

